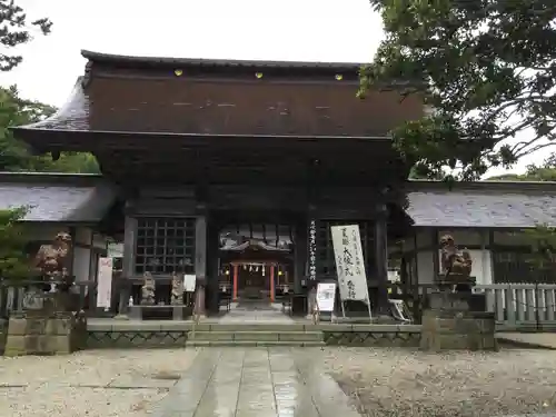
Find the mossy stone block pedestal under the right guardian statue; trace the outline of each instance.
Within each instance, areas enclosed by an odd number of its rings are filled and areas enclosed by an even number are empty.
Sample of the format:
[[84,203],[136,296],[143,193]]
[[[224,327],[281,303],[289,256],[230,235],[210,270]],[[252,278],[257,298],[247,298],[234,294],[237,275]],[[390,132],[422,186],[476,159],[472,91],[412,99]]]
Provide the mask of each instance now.
[[480,295],[434,292],[423,311],[423,350],[497,350],[494,312],[478,311]]

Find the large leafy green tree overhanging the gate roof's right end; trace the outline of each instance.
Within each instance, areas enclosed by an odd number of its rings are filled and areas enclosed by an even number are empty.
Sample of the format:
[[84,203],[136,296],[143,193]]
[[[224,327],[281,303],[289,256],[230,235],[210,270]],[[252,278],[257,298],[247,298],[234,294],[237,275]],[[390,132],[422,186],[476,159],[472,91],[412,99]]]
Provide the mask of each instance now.
[[[419,172],[478,179],[556,138],[556,1],[371,0],[386,38],[359,95],[400,88],[431,111],[397,127]],[[509,145],[518,132],[528,137]]]

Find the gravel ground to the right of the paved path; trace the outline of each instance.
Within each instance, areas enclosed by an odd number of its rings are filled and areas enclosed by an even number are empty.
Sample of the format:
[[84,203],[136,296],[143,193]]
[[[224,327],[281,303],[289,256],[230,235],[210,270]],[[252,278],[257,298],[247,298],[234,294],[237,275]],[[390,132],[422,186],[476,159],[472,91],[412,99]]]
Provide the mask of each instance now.
[[556,410],[556,353],[324,349],[364,416],[505,416]]

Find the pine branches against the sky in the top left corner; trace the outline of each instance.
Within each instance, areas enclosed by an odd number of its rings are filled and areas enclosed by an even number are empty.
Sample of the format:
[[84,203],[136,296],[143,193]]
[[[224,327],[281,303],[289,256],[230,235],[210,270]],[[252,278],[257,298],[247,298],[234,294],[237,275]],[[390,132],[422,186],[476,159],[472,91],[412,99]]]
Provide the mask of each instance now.
[[21,63],[23,58],[9,50],[29,42],[34,33],[48,34],[52,22],[47,19],[30,21],[24,10],[16,0],[0,0],[0,71],[10,71]]

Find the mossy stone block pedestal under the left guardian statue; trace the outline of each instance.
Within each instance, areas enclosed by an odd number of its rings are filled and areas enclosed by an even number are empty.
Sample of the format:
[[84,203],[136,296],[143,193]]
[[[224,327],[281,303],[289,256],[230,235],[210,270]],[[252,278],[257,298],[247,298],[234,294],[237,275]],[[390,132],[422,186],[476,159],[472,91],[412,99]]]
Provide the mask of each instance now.
[[56,317],[11,317],[4,356],[67,355],[87,342],[87,320],[63,314]]

